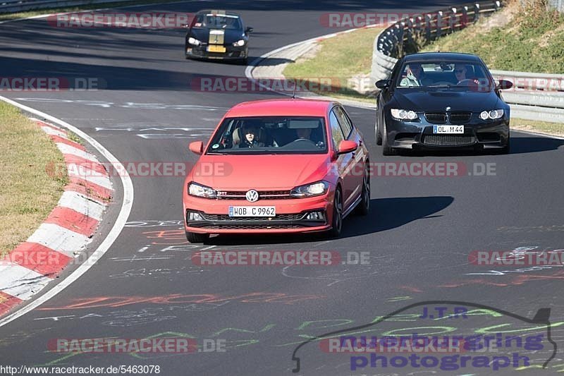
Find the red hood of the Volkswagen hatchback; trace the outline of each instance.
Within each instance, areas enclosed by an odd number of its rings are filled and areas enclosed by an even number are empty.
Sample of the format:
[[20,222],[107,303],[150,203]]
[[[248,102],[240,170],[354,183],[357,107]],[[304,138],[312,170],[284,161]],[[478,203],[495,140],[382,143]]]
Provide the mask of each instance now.
[[330,166],[328,154],[202,155],[192,179],[217,190],[286,190],[321,180]]

